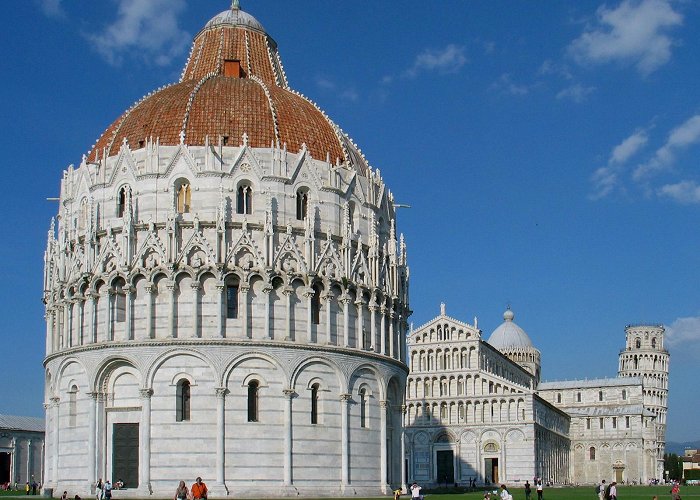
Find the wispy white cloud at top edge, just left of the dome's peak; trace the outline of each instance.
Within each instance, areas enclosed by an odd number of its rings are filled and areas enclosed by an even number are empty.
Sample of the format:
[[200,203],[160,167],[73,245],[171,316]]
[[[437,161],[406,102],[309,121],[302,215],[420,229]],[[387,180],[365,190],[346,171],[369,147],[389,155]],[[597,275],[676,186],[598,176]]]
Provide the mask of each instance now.
[[120,65],[125,55],[135,55],[165,66],[182,54],[191,38],[177,19],[186,6],[185,0],[117,1],[114,22],[88,35],[107,62]]

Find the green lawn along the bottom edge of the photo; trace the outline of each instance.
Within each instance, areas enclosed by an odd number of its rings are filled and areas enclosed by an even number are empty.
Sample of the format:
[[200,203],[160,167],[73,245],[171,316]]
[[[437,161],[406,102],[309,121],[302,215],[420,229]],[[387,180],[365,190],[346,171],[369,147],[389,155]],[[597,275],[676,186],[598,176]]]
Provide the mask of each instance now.
[[[618,488],[618,499],[619,500],[651,500],[654,495],[659,497],[659,500],[669,500],[671,495],[669,494],[670,486],[620,486]],[[525,492],[522,488],[511,488],[511,494],[515,500],[525,500]],[[23,491],[0,491],[0,497],[4,496],[22,496],[29,500],[31,496],[26,497]],[[698,498],[700,499],[700,486],[683,486],[681,488],[681,496],[684,500],[688,498]],[[39,495],[33,497],[39,500]],[[114,500],[119,500],[118,495],[114,495]],[[224,499],[229,498],[231,500],[241,500],[234,497],[224,497]],[[388,497],[391,498],[391,497]],[[483,500],[484,493],[481,491],[472,493],[441,493],[441,492],[430,492],[428,491],[425,495],[425,500]],[[410,500],[408,495],[403,495],[402,500]],[[537,493],[532,492],[532,500],[537,499]],[[92,500],[92,497],[86,498],[85,500]],[[147,499],[152,500],[152,499]],[[212,500],[214,498],[212,497]],[[324,499],[329,500],[329,499]],[[361,498],[354,498],[353,500],[368,500]],[[544,491],[543,500],[597,500],[595,492],[593,491],[593,486],[585,486],[579,488],[546,488]]]

